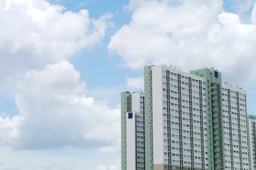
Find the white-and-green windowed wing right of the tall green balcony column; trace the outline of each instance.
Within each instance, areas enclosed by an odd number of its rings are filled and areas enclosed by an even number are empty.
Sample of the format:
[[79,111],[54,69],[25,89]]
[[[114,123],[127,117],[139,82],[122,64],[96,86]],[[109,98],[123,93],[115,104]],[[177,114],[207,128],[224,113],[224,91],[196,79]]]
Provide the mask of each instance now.
[[226,169],[250,170],[246,92],[222,85],[222,113]]

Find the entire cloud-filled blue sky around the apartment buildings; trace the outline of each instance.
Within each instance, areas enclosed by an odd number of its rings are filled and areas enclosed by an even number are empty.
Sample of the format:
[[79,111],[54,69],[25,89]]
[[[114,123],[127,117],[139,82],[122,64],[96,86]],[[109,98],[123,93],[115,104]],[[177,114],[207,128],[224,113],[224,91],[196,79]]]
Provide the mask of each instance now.
[[[129,0],[49,0],[50,5],[64,6],[73,15],[73,18],[64,16],[58,11],[59,7],[52,6],[57,12],[49,13],[49,6],[46,5],[47,8],[41,11],[52,18],[57,16],[53,23],[51,19],[44,17],[26,20],[25,18],[33,18],[40,13],[19,5],[17,1],[10,8],[15,10],[3,10],[0,6],[0,15],[4,16],[0,17],[0,21],[6,22],[3,24],[6,28],[0,26],[0,31],[7,35],[6,40],[5,37],[0,40],[0,45],[12,46],[0,48],[0,56],[2,53],[9,55],[5,57],[17,54],[18,59],[24,57],[22,54],[25,53],[24,61],[32,61],[32,65],[22,65],[6,62],[6,59],[0,57],[0,62],[7,65],[6,70],[0,69],[0,81],[5,82],[0,86],[0,113],[10,116],[0,119],[0,147],[8,153],[8,156],[0,154],[0,169],[63,170],[65,168],[62,166],[67,163],[69,165],[65,166],[69,167],[66,170],[119,170],[120,91],[125,88],[140,90],[143,66],[149,61],[179,65],[184,71],[204,65],[219,68],[224,81],[227,80],[234,86],[241,85],[247,91],[247,112],[255,114],[256,77],[252,63],[255,63],[256,58],[253,50],[256,40],[252,37],[256,35],[256,14],[255,22],[250,23],[255,1],[246,3],[247,1],[250,0],[225,0],[221,6],[221,0],[196,0],[195,4],[184,0],[179,6],[172,7],[160,0],[140,0],[140,3],[133,0],[131,4]],[[45,4],[44,0],[33,2]],[[248,5],[243,6],[244,3]],[[131,10],[124,10],[124,6],[129,6]],[[17,12],[17,9],[28,11],[27,16]],[[81,9],[87,9],[89,17],[79,16]],[[86,22],[79,22],[87,18],[98,20],[106,13],[112,13],[113,16],[101,21],[108,25],[104,29],[105,36],[96,30],[100,38],[97,39],[96,36],[95,40],[82,46],[76,44],[77,39],[90,39],[76,35],[76,31],[83,33],[88,29],[87,34],[95,31],[91,28],[92,22],[90,26]],[[236,14],[240,16],[241,22],[237,20]],[[13,27],[14,17],[17,17],[17,21],[24,20],[24,26],[17,29]],[[61,18],[66,22],[62,23]],[[60,35],[51,38],[50,33],[55,31],[54,23],[59,23],[56,34],[60,32]],[[72,24],[78,29],[72,27]],[[68,30],[68,35],[66,28],[70,25],[72,31],[70,33]],[[34,31],[41,39],[47,37],[46,43],[41,43],[42,48],[37,48],[39,39],[32,36],[32,31],[26,34],[27,30]],[[17,35],[12,36],[13,32],[27,35],[27,40],[32,43],[23,41]],[[170,38],[169,34],[173,36]],[[62,43],[65,48],[58,45]],[[91,44],[93,48],[86,48]],[[16,51],[13,50],[14,47],[17,48]],[[39,59],[42,64],[35,66],[33,59]],[[131,66],[131,63],[136,63],[136,66]],[[13,71],[13,68],[17,68],[17,71]],[[16,76],[21,78],[15,79]],[[12,83],[9,82],[10,79]],[[86,82],[86,87],[83,82]],[[92,104],[92,99],[88,97],[92,97],[95,103]],[[97,126],[96,122],[101,126]],[[99,130],[95,131],[93,127]],[[61,135],[58,136],[58,133]],[[55,138],[59,141],[51,145],[50,139]],[[49,146],[46,146],[47,149],[37,146],[31,150],[33,140],[45,142]],[[19,161],[12,159],[19,159],[20,155],[24,156]],[[43,161],[27,165],[25,162],[32,158]],[[87,161],[81,163],[83,159]]]

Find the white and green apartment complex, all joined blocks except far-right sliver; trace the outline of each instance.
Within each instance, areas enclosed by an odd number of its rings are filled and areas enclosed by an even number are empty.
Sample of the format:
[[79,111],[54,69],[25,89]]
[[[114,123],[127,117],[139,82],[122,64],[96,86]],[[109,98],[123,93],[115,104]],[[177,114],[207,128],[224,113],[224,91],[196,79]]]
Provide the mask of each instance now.
[[[141,151],[136,136],[142,128],[134,119],[139,112],[137,108],[127,109],[131,95],[121,95],[122,170],[249,170],[246,94],[222,85],[220,72],[144,67],[144,100],[136,102],[143,104],[143,161],[139,160],[142,156],[138,155]],[[128,119],[129,114],[134,116]],[[128,144],[128,121],[135,127],[131,135],[135,141],[130,142],[137,144],[135,147]],[[131,158],[127,154],[132,148],[137,155],[132,159],[135,163],[128,166]],[[142,162],[143,167],[139,167]]]

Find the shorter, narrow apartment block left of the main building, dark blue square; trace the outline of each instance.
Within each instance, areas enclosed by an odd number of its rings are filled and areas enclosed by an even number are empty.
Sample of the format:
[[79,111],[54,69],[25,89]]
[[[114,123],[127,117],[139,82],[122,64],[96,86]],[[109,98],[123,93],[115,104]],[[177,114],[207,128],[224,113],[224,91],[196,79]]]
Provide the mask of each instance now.
[[121,93],[121,167],[144,170],[144,94]]

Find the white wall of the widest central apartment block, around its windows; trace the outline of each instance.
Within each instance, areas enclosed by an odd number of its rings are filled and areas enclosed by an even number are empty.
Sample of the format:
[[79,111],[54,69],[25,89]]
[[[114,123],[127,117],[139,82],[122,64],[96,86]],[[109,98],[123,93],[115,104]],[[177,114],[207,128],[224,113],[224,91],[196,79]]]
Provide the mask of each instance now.
[[[164,116],[164,113],[166,113],[167,109],[164,110],[163,108],[166,107],[167,108],[167,98],[164,96],[166,95],[166,91],[163,91],[163,88],[166,88],[166,85],[163,84],[163,82],[166,82],[166,79],[163,78],[163,76],[166,76],[166,72],[163,72],[162,70],[169,70],[172,73],[176,73],[176,74],[181,74],[185,77],[192,77],[192,79],[195,80],[201,80],[202,82],[205,81],[204,78],[202,77],[198,77],[183,71],[179,71],[173,68],[169,68],[163,65],[157,65],[154,66],[152,68],[152,95],[153,95],[153,149],[154,149],[154,164],[168,164],[168,149],[164,149],[164,146],[168,147],[168,142],[164,142],[164,139],[167,139],[167,134],[166,136],[164,136],[164,133],[167,133],[167,129],[164,129],[163,127],[167,126],[167,123],[164,122],[165,120],[167,120],[167,116]],[[183,82],[189,82],[188,79],[181,78],[181,81]],[[170,90],[177,92],[177,76],[175,76],[174,74],[170,74]],[[192,82],[193,84],[198,86],[198,82]],[[175,87],[176,86],[176,87]],[[182,88],[189,88],[188,85],[186,84],[182,84],[181,85]],[[205,85],[202,85],[202,87],[205,88]],[[194,91],[199,91],[198,87],[192,87],[192,90]],[[183,136],[186,136],[186,139],[183,139],[183,142],[185,143],[189,143],[190,144],[190,117],[189,117],[189,103],[186,102],[189,101],[189,97],[186,96],[186,94],[189,94],[189,91],[186,91],[186,89],[181,90],[182,95],[181,98],[184,100],[182,102],[182,105],[185,106],[185,108],[182,108],[183,113],[183,119],[182,120],[182,130],[186,130],[186,132],[181,132],[183,133]],[[203,93],[205,93],[205,90],[202,91]],[[171,135],[175,135],[175,137],[171,137],[172,141],[174,141],[175,143],[171,144],[171,154],[175,154],[175,156],[172,155],[172,160],[175,160],[175,162],[171,162],[172,165],[180,165],[180,161],[184,161],[184,162],[191,162],[191,152],[190,151],[183,151],[183,159],[180,160],[180,147],[179,147],[179,126],[178,126],[178,94],[175,93],[170,93],[170,96],[173,97],[170,98],[170,103],[171,103]],[[194,97],[198,97],[199,98],[199,94],[192,94],[192,96]],[[176,99],[175,99],[176,98]],[[205,99],[205,96],[203,96],[203,99]],[[166,103],[163,103],[164,101],[166,101]],[[200,109],[199,105],[196,105],[196,103],[199,103],[199,99],[192,99],[193,102],[195,102],[195,105],[193,105],[194,108]],[[173,103],[173,105],[172,105]],[[203,105],[205,105],[205,101],[203,101]],[[188,107],[188,108],[186,108]],[[203,108],[203,111],[206,112],[206,108]],[[187,114],[188,113],[188,114]],[[201,130],[200,130],[200,111],[196,110],[193,111],[193,115],[195,114],[195,116],[193,116],[193,120],[195,120],[196,122],[193,122],[195,129],[193,130],[193,132],[195,132],[196,134],[194,134],[194,143],[195,144],[199,144],[201,146],[201,140],[205,140],[207,139],[207,137],[204,137],[204,139],[201,139]],[[206,113],[203,113],[204,116],[206,116]],[[204,122],[206,122],[206,119],[204,119]],[[187,126],[189,125],[189,126]],[[207,125],[204,125],[204,127],[206,128]],[[207,133],[206,130],[204,130],[204,133]],[[183,144],[183,149],[191,149],[191,146],[189,144],[184,145]],[[174,149],[172,148],[174,147]],[[201,146],[202,147],[202,146]],[[201,158],[201,147],[194,147],[194,155],[198,156]],[[167,152],[167,155],[164,155],[164,152]],[[176,156],[177,154],[177,156]],[[186,157],[185,157],[186,156]],[[207,157],[207,154],[205,154],[205,156]],[[164,160],[167,159],[167,161],[165,162]],[[201,159],[195,159],[195,167],[201,168],[202,167],[202,163],[201,163]],[[206,164],[208,163],[207,161],[205,161]],[[186,164],[184,163],[184,166],[188,166],[191,167],[191,163],[190,164]]]

